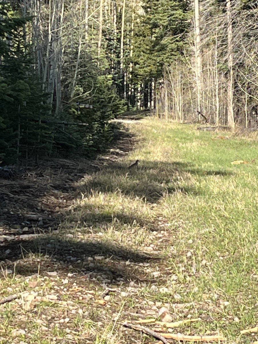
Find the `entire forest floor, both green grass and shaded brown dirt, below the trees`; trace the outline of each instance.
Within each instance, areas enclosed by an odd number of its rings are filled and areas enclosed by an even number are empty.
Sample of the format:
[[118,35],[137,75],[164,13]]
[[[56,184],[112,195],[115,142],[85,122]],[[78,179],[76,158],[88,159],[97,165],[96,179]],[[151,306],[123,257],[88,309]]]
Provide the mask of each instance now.
[[0,299],[13,297],[0,305],[0,343],[157,342],[123,326],[135,320],[255,343],[257,138],[126,126],[96,161],[0,182]]

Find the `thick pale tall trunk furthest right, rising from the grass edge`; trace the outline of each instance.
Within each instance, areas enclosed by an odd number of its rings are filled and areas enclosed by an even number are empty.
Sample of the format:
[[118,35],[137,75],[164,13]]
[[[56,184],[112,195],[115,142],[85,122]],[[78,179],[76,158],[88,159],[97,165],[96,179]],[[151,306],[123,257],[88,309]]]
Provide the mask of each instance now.
[[232,14],[231,2],[227,1],[227,33],[228,33],[228,80],[227,80],[227,123],[235,130],[234,111],[233,111],[233,33],[232,33]]

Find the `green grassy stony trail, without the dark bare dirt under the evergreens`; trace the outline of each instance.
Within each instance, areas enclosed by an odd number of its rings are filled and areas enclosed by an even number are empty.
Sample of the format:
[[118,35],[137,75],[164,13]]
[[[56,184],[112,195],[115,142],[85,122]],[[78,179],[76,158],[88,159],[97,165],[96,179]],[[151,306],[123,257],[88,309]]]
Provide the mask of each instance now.
[[[47,239],[72,237],[69,258],[59,252],[53,263],[51,255],[30,256],[52,270],[61,262],[57,277],[38,275],[44,283],[32,290],[41,296],[58,292],[74,312],[67,315],[58,302],[41,299],[24,311],[21,327],[26,322],[28,336],[13,334],[17,315],[5,305],[0,343],[147,343],[150,337],[121,323],[158,319],[163,306],[171,321],[200,318],[174,333],[219,331],[227,343],[258,341],[257,333],[240,336],[258,326],[258,164],[231,164],[256,159],[257,141],[219,140],[218,133],[153,119],[129,129],[135,149],[77,183],[80,196],[58,235]],[[139,167],[128,170],[136,159]],[[2,279],[3,295],[18,282],[20,291],[30,290],[28,281]],[[107,287],[116,292],[103,301]],[[58,322],[64,313],[69,320]]]

